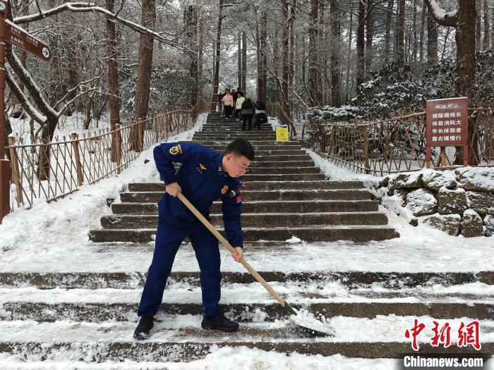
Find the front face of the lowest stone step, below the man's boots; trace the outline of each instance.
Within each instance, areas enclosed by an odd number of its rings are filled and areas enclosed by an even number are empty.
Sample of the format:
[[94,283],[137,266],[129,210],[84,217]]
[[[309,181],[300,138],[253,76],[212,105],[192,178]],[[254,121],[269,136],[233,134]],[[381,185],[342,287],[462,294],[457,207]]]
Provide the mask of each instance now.
[[[59,358],[59,352],[75,352],[78,359],[83,362],[100,363],[107,361],[119,361],[121,359],[133,359],[140,361],[153,362],[181,362],[201,359],[210,354],[212,347],[249,347],[264,350],[266,352],[276,351],[281,353],[301,353],[301,354],[320,354],[322,356],[332,356],[340,354],[349,358],[366,358],[366,359],[397,359],[397,364],[402,362],[403,354],[414,352],[414,354],[437,354],[437,353],[470,353],[482,354],[486,360],[494,353],[494,343],[483,343],[482,351],[479,353],[471,347],[457,347],[452,345],[448,348],[432,347],[430,344],[421,344],[418,352],[411,350],[411,343],[408,342],[349,342],[349,341],[316,341],[304,343],[300,341],[283,340],[281,342],[272,342],[267,340],[260,341],[234,341],[231,340],[217,341],[213,343],[193,342],[193,341],[153,341],[152,338],[145,342],[128,341],[105,341],[92,343],[73,343],[64,342],[63,340],[44,344],[42,342],[0,342],[0,352],[10,354],[22,354],[23,357],[32,355],[33,358],[39,359],[40,355],[44,361],[52,357]],[[486,362],[484,360],[484,362]],[[145,362],[142,362],[145,364]],[[29,364],[29,362],[28,362]]]

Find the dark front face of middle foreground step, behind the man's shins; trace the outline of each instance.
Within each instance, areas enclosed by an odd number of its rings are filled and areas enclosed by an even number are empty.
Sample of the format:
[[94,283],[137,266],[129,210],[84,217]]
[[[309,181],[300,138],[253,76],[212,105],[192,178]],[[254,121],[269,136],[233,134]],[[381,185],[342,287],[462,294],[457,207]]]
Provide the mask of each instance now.
[[[90,291],[90,290],[88,290]],[[172,291],[170,291],[172,292]],[[166,291],[165,291],[166,293]],[[268,294],[268,293],[266,293]],[[203,303],[200,301],[200,292],[191,292],[195,302],[177,303],[164,302],[160,304],[159,312],[167,314],[200,315],[203,312]],[[168,297],[168,296],[166,296]],[[102,297],[104,298],[104,297]],[[171,298],[170,298],[171,299]],[[61,301],[61,298],[58,297]],[[329,301],[329,299],[328,299]],[[409,302],[382,298],[374,300],[347,300],[346,302],[301,302],[287,301],[294,309],[307,309],[313,314],[330,317],[354,317],[373,319],[377,316],[394,314],[397,316],[431,316],[435,319],[494,319],[492,302],[481,300],[464,300],[457,302],[425,300],[424,302]],[[0,304],[1,320],[35,320],[54,321],[63,317],[64,320],[75,321],[128,321],[136,314],[138,297],[135,302],[25,302],[11,300]],[[282,319],[287,312],[274,298],[265,298],[263,302],[220,302],[224,312],[228,312],[236,320],[251,321],[256,312],[267,314],[270,321]]]

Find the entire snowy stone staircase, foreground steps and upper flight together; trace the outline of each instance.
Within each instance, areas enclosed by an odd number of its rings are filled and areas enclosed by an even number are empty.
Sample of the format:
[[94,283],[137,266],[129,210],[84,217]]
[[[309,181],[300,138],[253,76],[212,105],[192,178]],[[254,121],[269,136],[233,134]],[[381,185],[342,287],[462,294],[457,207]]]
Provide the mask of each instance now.
[[[246,259],[292,307],[325,316],[335,337],[306,338],[294,331],[279,304],[229,256],[222,259],[220,303],[241,328],[237,333],[203,331],[198,266],[191,265],[194,253],[184,243],[152,335],[133,340],[135,312],[152,258],[156,202],[164,190],[159,183],[140,183],[129,184],[121,203],[112,204],[113,214],[102,217],[102,228],[90,230],[87,260],[78,265],[82,269],[74,270],[68,261],[55,272],[44,266],[39,271],[0,271],[0,355],[32,364],[128,360],[145,367],[146,362],[200,359],[215,346],[231,346],[392,359],[412,352],[411,340],[403,334],[416,316],[428,323],[432,318],[478,319],[483,335],[494,332],[494,296],[488,289],[494,284],[493,271],[392,272],[392,259],[388,271],[370,266],[369,271],[311,269],[313,259],[336,258],[333,254],[344,246],[367,253],[380,246],[365,241],[398,235],[361,183],[325,180],[298,143],[275,144],[267,125],[260,132],[238,129],[238,123],[211,113],[194,140],[219,151],[239,135],[260,143],[255,144],[256,162],[243,178]],[[286,173],[277,173],[279,169]],[[212,222],[221,228],[220,204],[212,207]],[[322,243],[284,242],[292,236]],[[301,257],[303,253],[308,256]],[[351,253],[344,258],[351,259]],[[101,261],[99,269],[108,267],[98,270],[92,266],[95,261]],[[297,265],[306,268],[296,271]],[[487,288],[465,293],[464,284]],[[450,290],[438,290],[438,285]],[[471,346],[419,344],[421,354],[476,353]],[[493,354],[494,341],[483,341],[481,352]]]

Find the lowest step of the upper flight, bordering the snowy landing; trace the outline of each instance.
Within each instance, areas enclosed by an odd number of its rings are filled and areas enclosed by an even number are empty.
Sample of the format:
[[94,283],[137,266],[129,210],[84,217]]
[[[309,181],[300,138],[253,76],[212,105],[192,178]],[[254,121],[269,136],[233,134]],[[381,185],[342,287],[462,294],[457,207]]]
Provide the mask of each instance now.
[[[223,230],[220,233],[225,235]],[[151,242],[155,240],[155,229],[92,229],[89,238],[93,242]],[[243,240],[284,241],[299,238],[308,242],[330,242],[351,240],[368,242],[398,238],[399,234],[390,226],[338,225],[338,226],[285,226],[273,228],[243,228]]]

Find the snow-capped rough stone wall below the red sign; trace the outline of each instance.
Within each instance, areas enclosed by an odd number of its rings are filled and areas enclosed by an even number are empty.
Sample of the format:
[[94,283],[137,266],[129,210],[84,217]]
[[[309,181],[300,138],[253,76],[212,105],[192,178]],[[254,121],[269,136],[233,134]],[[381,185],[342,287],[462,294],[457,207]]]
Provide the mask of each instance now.
[[425,223],[450,235],[494,235],[494,168],[431,169],[388,175],[374,185],[378,194],[399,197]]

